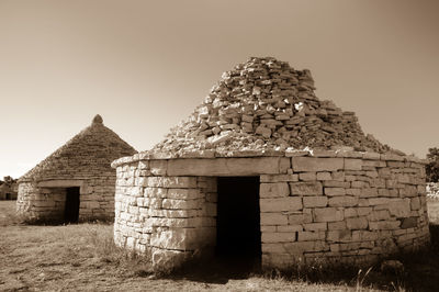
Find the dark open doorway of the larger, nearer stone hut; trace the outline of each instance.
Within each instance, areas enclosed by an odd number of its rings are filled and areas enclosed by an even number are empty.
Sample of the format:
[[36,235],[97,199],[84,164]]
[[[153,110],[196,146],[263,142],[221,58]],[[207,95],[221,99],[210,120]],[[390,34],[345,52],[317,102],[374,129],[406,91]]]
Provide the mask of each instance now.
[[241,268],[260,265],[259,177],[219,177],[217,191],[217,257]]

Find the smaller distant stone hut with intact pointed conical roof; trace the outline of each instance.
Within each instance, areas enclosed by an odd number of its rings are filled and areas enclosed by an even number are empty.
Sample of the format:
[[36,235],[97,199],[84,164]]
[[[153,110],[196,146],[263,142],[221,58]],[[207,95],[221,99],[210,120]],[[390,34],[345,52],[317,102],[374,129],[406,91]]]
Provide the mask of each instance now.
[[18,213],[29,222],[76,223],[114,217],[111,161],[136,150],[100,115],[19,180]]

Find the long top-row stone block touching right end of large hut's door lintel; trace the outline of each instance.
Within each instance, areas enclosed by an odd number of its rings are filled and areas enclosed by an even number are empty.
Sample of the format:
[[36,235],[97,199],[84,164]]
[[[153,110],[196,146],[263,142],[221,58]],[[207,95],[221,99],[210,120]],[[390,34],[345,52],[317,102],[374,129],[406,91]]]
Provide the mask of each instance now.
[[344,158],[292,157],[294,171],[336,171],[344,169]]

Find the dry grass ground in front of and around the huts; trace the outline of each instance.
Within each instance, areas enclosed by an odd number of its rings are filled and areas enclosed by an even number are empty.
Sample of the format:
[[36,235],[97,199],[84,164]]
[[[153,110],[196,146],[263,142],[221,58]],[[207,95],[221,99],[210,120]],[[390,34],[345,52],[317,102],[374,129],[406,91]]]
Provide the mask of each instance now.
[[[429,202],[439,223],[439,201]],[[157,277],[142,257],[117,249],[112,226],[79,224],[26,226],[14,216],[14,201],[0,201],[0,291],[435,291],[439,287],[438,227],[432,248],[401,259],[402,276],[384,276],[376,267],[314,271],[297,277],[179,272]],[[204,267],[202,267],[203,270]]]

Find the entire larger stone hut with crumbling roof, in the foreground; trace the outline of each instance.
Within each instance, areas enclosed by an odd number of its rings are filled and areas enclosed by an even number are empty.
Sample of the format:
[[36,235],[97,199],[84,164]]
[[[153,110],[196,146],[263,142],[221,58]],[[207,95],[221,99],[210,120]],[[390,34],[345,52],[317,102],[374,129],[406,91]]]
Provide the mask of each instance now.
[[425,161],[364,135],[308,70],[250,58],[151,150],[115,160],[114,240],[157,269],[369,265],[429,244]]

